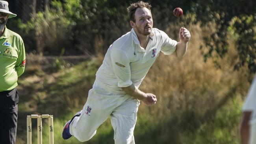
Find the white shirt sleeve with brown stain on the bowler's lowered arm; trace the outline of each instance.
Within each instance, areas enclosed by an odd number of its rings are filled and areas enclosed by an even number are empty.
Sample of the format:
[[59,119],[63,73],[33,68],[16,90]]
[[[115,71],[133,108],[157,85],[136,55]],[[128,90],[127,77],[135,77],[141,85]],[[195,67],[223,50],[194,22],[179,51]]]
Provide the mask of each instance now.
[[118,87],[128,87],[132,85],[130,59],[127,55],[122,50],[113,48],[110,51],[110,57],[118,81]]

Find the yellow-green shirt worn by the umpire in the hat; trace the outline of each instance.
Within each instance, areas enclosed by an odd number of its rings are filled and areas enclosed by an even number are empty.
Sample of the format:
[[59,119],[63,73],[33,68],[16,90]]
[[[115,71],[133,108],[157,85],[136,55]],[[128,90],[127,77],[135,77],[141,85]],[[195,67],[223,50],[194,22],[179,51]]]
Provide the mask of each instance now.
[[19,34],[6,27],[0,37],[0,92],[17,87],[18,77],[25,70],[25,47]]

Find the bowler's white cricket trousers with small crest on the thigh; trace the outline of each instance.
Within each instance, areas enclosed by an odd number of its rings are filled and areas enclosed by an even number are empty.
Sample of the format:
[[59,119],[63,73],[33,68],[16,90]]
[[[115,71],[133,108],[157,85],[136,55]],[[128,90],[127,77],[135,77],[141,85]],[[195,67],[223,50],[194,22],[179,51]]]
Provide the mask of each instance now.
[[90,140],[110,116],[115,144],[135,144],[134,127],[140,101],[129,95],[114,94],[93,84],[80,116],[70,124],[70,134],[79,141]]

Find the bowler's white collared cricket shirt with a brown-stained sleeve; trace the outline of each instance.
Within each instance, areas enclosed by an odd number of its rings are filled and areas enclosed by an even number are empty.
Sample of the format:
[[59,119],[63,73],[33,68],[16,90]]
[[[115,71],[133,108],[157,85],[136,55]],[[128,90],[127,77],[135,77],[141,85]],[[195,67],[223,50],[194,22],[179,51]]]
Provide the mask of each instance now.
[[96,72],[96,82],[106,90],[125,94],[121,87],[134,84],[139,87],[159,52],[170,55],[176,50],[177,41],[153,28],[146,49],[140,46],[132,29],[109,47],[102,65]]

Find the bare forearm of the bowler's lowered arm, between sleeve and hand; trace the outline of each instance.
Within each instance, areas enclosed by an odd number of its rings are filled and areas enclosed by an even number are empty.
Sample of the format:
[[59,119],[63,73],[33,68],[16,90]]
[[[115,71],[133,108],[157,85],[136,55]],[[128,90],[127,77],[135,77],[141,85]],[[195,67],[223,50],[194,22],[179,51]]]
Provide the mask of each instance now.
[[139,90],[137,87],[134,86],[134,84],[128,86],[128,87],[121,87],[126,94],[133,96],[134,98],[137,98],[139,100],[144,100],[147,98],[145,92]]

